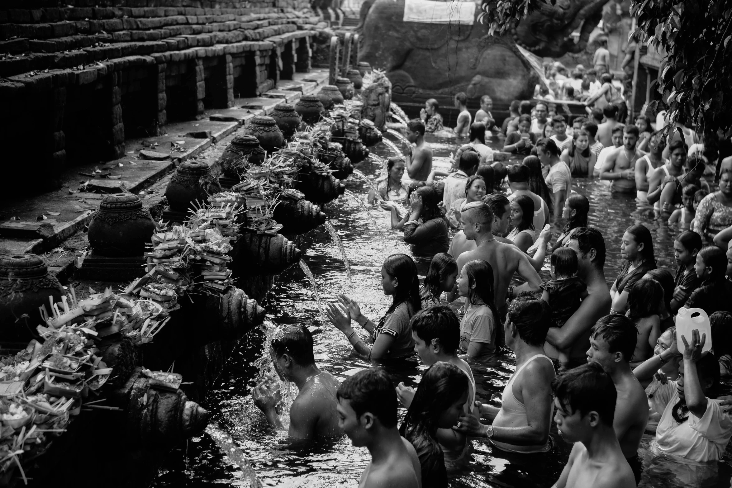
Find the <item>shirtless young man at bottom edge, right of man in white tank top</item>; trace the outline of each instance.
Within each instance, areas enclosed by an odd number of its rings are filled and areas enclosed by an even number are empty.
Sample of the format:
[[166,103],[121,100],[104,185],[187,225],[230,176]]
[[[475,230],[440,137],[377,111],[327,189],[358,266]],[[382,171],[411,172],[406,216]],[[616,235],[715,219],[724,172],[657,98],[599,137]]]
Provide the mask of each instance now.
[[635,488],[613,429],[617,393],[600,364],[585,364],[552,381],[559,435],[572,446],[552,488]]

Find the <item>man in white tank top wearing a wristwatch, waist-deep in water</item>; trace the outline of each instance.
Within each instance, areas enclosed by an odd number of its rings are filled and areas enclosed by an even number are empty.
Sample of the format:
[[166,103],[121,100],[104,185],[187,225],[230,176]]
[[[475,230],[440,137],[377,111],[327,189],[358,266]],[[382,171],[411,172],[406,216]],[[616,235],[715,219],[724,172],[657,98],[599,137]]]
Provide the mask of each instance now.
[[544,355],[549,329],[546,302],[520,297],[509,308],[504,333],[506,345],[516,354],[516,372],[504,388],[501,408],[481,405],[480,417],[463,414],[453,429],[475,437],[485,437],[494,448],[531,453],[548,451],[553,413],[551,382],[554,365]]

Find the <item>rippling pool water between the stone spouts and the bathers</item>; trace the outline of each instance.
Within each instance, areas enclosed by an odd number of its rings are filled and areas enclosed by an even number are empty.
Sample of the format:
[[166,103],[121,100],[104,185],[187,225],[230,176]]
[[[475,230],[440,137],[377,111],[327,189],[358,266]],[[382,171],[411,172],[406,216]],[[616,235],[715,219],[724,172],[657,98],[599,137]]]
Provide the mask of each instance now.
[[[400,143],[395,140],[396,146]],[[450,140],[430,140],[435,153],[435,165],[447,168],[447,157],[457,145]],[[497,140],[490,146],[502,146]],[[371,178],[381,176],[383,160],[392,156],[389,146],[379,144],[373,149],[378,156],[370,156],[357,165]],[[343,195],[324,206],[330,222],[340,235],[343,248],[351,263],[352,285],[349,285],[340,250],[324,228],[305,236],[307,250],[303,260],[310,266],[323,301],[335,301],[338,293],[346,293],[361,304],[369,318],[381,317],[390,299],[381,291],[380,269],[384,258],[394,252],[409,254],[402,233],[392,230],[389,214],[378,205],[359,203],[365,199],[367,184],[354,176],[347,181],[353,195]],[[626,195],[611,195],[600,181],[575,179],[573,189],[586,195],[591,203],[590,225],[602,230],[608,257],[605,274],[611,282],[621,266],[620,239],[631,224],[643,224],[654,235],[658,265],[675,271],[673,236],[669,229],[653,219],[649,207],[639,208]],[[373,225],[381,231],[382,239]],[[554,235],[557,235],[555,231]],[[416,259],[421,276],[428,262]],[[548,259],[547,259],[548,263]],[[548,266],[542,270],[548,279]],[[263,304],[269,319],[275,323],[306,323],[314,332],[315,361],[318,367],[331,372],[340,380],[359,369],[369,367],[365,361],[351,355],[346,337],[329,323],[321,327],[318,305],[313,290],[299,266],[293,266],[280,275],[275,287]],[[369,460],[365,448],[354,448],[345,436],[337,440],[296,446],[286,442],[286,432],[269,428],[264,415],[252,402],[250,390],[255,386],[256,368],[250,363],[261,356],[264,334],[253,331],[245,337],[234,352],[217,383],[209,392],[203,406],[214,414],[218,427],[234,439],[236,445],[250,460],[265,486],[277,487],[356,487]],[[513,356],[502,356],[495,364],[472,364],[477,394],[484,401],[496,405],[501,391],[515,370]],[[425,367],[417,360],[387,364],[395,383],[417,386]],[[400,418],[405,410],[400,409]],[[569,448],[552,429],[553,449],[545,454],[494,457],[490,446],[482,440],[473,440],[471,462],[452,478],[452,487],[550,487],[559,477],[567,461]],[[641,455],[651,440],[646,435]],[[729,449],[728,449],[729,451]],[[698,467],[677,465],[663,459],[646,459],[641,487],[729,487],[732,470],[729,453],[717,466]],[[217,448],[216,443],[203,435],[193,438],[173,451],[165,460],[153,487],[199,487],[212,484],[224,487],[249,486],[242,470]]]

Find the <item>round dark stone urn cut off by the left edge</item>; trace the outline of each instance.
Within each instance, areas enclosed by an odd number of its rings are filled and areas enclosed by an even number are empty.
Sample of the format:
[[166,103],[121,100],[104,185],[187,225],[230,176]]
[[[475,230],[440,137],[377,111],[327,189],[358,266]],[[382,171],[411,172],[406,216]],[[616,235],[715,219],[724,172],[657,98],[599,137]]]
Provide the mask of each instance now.
[[[64,289],[48,274],[44,260],[34,254],[0,256],[0,339],[29,340],[31,331],[43,323],[38,307],[61,301]],[[28,314],[28,318],[20,318]],[[30,329],[26,328],[26,321]]]

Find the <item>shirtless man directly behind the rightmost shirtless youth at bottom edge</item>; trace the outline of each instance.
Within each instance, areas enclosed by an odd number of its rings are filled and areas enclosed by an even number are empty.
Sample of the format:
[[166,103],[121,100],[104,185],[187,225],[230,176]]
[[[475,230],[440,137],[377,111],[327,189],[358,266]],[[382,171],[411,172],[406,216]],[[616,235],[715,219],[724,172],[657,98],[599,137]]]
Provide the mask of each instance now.
[[648,424],[649,407],[646,391],[630,368],[636,342],[638,329],[630,318],[605,315],[592,328],[587,361],[600,364],[613,380],[618,392],[613,429],[638,483],[643,465],[638,447]]

